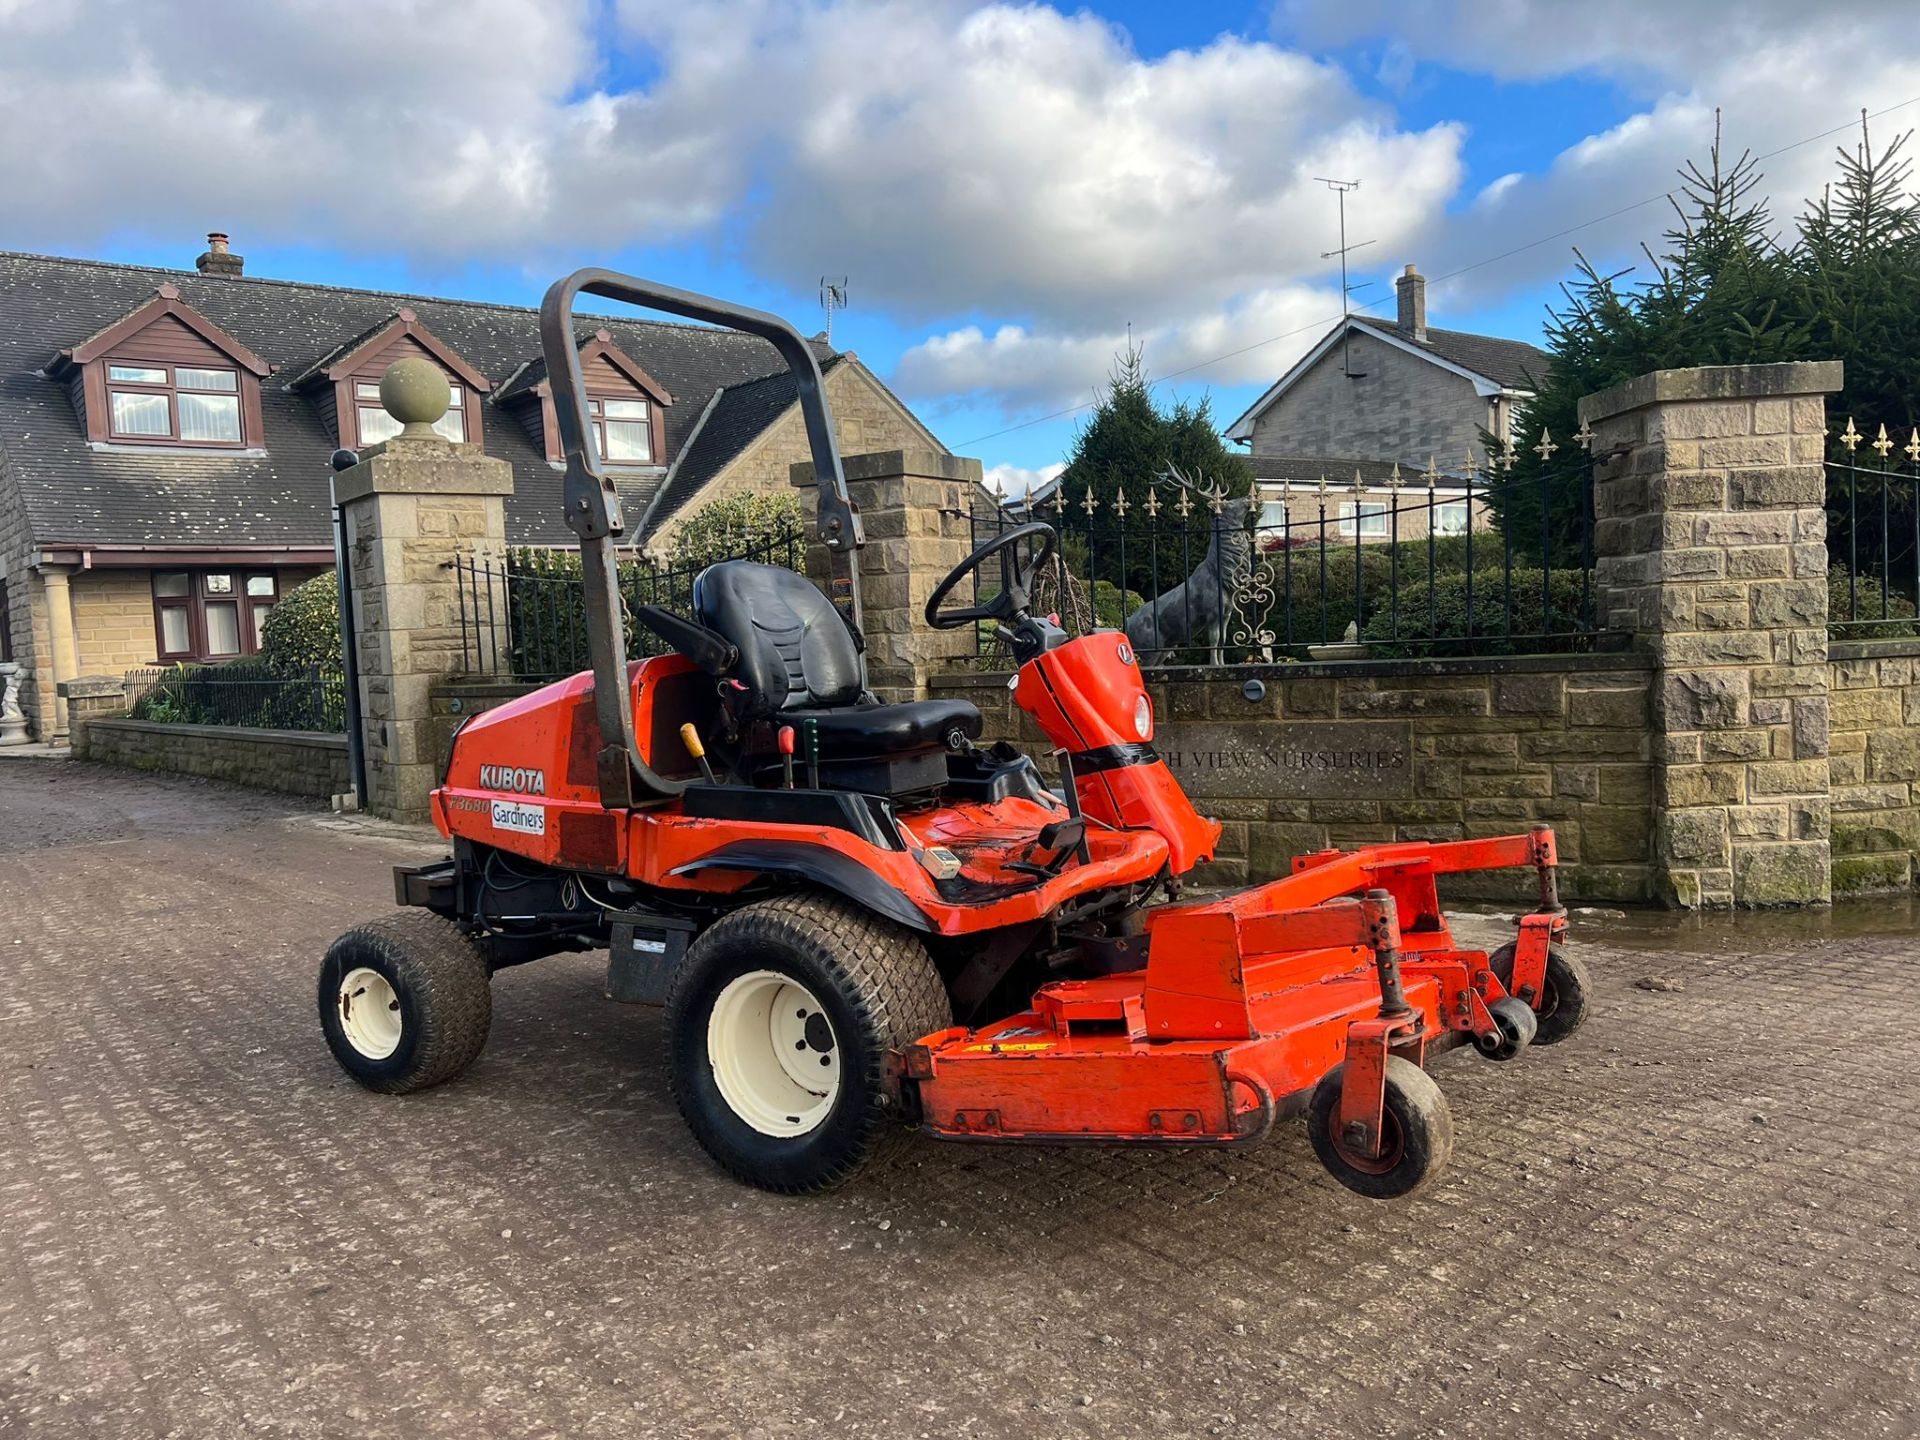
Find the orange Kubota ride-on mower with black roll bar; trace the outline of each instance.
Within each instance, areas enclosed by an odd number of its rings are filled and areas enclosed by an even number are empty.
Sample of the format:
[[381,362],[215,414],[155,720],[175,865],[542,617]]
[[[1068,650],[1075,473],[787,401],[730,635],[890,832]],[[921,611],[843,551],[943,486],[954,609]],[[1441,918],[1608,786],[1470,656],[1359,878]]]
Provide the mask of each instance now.
[[[641,607],[672,653],[628,662],[620,501],[588,444],[572,307],[588,292],[770,340],[797,382],[833,595],[728,561],[693,616]],[[1181,899],[1219,824],[1154,753],[1127,639],[1029,611],[1054,532],[989,540],[927,624],[993,620],[1014,699],[1058,778],[983,747],[964,701],[868,693],[847,497],[820,369],[756,311],[582,271],[547,292],[541,342],[580,536],[591,670],[461,726],[434,824],[451,858],[396,872],[407,910],[342,935],[321,1025],[374,1091],[465,1069],[490,975],[607,948],[614,1000],[664,1004],[674,1098],[707,1152],[770,1190],[849,1177],[910,1125],[956,1140],[1244,1144],[1304,1114],[1329,1171],[1411,1194],[1452,1119],[1427,1062],[1571,1035],[1588,981],[1559,945],[1553,833],[1371,845]],[[991,599],[952,605],[993,568]],[[995,584],[996,582],[996,584]],[[1463,950],[1434,881],[1530,866],[1513,945]]]

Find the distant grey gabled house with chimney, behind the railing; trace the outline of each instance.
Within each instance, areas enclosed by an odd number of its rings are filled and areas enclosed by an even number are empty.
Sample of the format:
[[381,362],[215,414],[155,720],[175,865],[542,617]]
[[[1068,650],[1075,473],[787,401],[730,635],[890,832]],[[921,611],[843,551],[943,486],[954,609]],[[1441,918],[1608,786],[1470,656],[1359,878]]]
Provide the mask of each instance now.
[[[1227,426],[1250,451],[1263,528],[1317,538],[1325,503],[1329,538],[1388,540],[1396,467],[1402,540],[1425,538],[1428,515],[1438,534],[1486,526],[1465,472],[1486,465],[1482,432],[1511,438],[1548,355],[1524,340],[1428,326],[1427,278],[1413,265],[1394,288],[1394,324],[1348,317]],[[1428,472],[1440,476],[1430,495]]]

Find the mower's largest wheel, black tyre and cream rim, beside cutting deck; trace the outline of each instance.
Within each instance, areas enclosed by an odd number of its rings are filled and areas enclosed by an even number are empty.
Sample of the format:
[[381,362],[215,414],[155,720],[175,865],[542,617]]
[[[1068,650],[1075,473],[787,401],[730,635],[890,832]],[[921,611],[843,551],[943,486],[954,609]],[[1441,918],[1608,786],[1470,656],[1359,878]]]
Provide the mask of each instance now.
[[952,1023],[906,929],[785,895],[714,922],[666,998],[674,1100],[735,1179],[803,1194],[904,1135],[899,1052]]

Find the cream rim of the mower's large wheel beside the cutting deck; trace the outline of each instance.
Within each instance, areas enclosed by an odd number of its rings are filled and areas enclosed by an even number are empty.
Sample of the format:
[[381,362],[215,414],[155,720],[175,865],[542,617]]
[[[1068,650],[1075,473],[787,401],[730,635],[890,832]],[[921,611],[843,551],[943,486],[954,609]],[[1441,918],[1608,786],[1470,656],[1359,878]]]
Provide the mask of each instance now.
[[774,970],[720,991],[707,1016],[707,1062],[720,1098],[760,1135],[806,1135],[839,1100],[833,1023],[810,989]]

